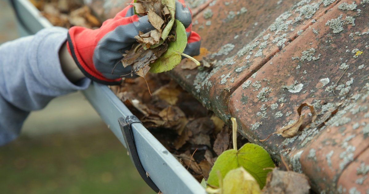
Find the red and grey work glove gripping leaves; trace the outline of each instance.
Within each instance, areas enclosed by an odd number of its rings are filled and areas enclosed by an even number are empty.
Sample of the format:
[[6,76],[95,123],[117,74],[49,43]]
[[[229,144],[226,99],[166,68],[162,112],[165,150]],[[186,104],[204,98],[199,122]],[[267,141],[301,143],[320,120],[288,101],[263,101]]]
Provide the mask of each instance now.
[[[191,11],[183,0],[176,1],[176,19],[186,28],[187,47],[185,54],[198,55],[200,36],[191,32]],[[106,85],[119,84],[121,75],[129,74],[131,67],[124,68],[120,60],[122,54],[130,50],[137,42],[134,38],[139,31],[147,33],[155,28],[147,16],[134,14],[134,8],[128,6],[114,18],[106,20],[100,28],[91,30],[74,26],[68,31],[68,51],[83,74],[93,81]],[[117,64],[117,65],[116,65]],[[112,70],[114,66],[114,72]]]

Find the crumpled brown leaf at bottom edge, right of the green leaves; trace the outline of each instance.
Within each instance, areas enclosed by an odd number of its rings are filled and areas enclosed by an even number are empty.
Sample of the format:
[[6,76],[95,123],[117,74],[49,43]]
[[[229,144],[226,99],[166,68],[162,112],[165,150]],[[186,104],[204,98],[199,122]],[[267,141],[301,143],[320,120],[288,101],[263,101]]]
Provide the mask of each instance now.
[[264,194],[308,194],[310,185],[304,174],[274,169],[266,178]]

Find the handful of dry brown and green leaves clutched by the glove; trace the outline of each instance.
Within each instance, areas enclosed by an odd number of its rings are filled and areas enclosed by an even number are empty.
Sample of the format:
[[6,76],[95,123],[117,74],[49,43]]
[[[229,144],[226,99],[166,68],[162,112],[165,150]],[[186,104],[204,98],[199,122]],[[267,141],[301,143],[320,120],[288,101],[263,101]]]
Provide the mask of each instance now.
[[121,60],[123,67],[132,65],[132,72],[144,77],[150,71],[165,72],[173,69],[182,59],[187,45],[186,30],[179,20],[175,19],[175,0],[135,0],[132,3],[135,13],[148,16],[155,30],[148,33],[139,32],[135,36],[138,43]]

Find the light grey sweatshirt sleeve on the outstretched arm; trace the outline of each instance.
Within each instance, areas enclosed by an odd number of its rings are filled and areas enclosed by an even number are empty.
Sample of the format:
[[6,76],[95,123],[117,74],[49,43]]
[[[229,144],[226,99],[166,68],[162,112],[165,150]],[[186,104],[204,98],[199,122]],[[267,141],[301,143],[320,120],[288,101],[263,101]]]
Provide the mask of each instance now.
[[88,78],[73,84],[62,72],[59,50],[67,32],[46,28],[0,45],[0,146],[19,135],[30,111],[90,85]]

